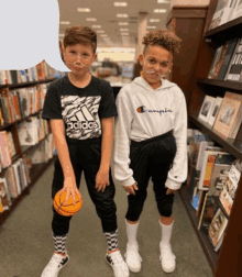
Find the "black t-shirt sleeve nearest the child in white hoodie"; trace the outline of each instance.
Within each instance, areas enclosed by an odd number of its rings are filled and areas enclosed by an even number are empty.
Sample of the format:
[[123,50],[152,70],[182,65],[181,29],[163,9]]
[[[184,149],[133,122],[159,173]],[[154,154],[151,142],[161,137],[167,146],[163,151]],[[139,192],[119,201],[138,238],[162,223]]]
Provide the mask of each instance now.
[[112,91],[112,87],[107,81],[102,87],[101,103],[99,108],[99,118],[112,118],[117,117],[116,100]]

